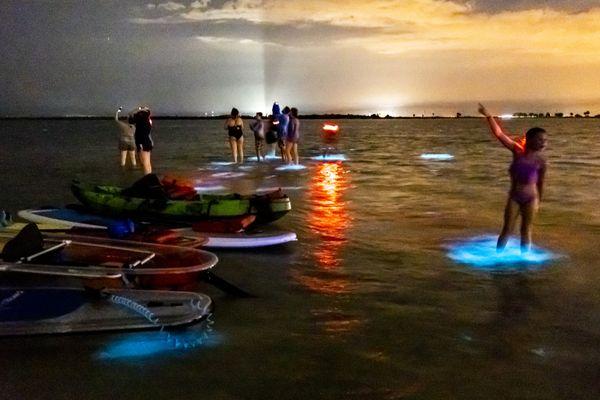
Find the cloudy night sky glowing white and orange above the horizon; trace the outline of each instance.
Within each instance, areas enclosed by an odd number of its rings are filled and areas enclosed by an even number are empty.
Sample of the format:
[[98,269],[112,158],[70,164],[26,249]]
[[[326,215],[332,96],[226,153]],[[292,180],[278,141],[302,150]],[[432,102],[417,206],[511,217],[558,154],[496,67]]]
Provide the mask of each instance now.
[[0,116],[600,113],[600,0],[2,0]]

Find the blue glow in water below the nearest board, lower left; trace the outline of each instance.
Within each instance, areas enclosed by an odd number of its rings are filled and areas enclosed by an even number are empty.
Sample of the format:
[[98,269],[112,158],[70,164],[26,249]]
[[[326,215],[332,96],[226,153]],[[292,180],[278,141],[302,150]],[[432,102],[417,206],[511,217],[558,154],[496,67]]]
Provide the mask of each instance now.
[[200,347],[214,347],[221,339],[212,331],[129,333],[107,343],[98,353],[99,360],[120,360],[182,353]]

